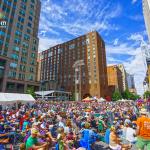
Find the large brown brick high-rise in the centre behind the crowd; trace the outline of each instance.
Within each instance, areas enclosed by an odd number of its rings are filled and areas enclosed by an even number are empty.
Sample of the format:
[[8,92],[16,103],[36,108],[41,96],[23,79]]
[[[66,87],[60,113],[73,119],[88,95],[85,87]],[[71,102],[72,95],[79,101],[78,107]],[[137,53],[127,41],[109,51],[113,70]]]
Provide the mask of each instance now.
[[105,43],[98,32],[93,31],[51,47],[41,52],[40,57],[41,80],[49,85],[45,90],[55,88],[72,93],[77,91],[81,94],[80,98],[86,95],[105,96]]

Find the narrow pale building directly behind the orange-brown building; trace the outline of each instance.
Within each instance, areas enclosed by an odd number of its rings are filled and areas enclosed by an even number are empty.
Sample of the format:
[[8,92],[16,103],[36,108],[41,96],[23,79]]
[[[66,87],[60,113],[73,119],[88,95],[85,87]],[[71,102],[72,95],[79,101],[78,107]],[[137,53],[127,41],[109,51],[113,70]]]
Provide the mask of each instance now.
[[120,69],[121,73],[122,73],[122,81],[123,81],[123,90],[125,91],[126,89],[128,89],[128,84],[127,84],[127,72],[124,68],[123,64],[119,64],[118,68]]

